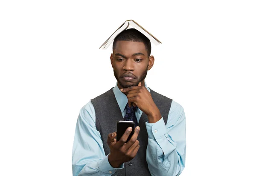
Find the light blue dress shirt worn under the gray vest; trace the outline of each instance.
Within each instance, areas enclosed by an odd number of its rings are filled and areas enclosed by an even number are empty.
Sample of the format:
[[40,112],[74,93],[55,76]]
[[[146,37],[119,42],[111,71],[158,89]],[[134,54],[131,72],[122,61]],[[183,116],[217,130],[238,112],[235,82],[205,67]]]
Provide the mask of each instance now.
[[[146,83],[145,87],[148,89]],[[124,117],[128,99],[117,87],[117,82],[113,93]],[[135,115],[138,122],[142,113],[137,108]],[[113,168],[109,164],[95,120],[95,110],[90,101],[81,108],[76,123],[72,151],[73,176],[116,176],[124,167],[122,164],[120,168]],[[172,101],[166,125],[163,118],[156,123],[146,122],[145,125],[148,132],[146,161],[151,175],[179,176],[185,167],[186,156],[186,118],[183,107]]]

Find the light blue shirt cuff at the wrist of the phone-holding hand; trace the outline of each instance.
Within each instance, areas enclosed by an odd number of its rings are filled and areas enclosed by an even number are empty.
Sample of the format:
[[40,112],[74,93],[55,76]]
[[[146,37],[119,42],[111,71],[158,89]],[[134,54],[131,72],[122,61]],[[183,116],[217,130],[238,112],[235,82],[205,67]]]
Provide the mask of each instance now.
[[124,168],[124,164],[122,163],[122,165],[119,168],[113,168],[109,162],[108,162],[108,155],[102,159],[101,164],[99,165],[99,169],[102,171],[102,173],[104,173],[104,175],[106,176],[111,176],[114,173],[119,172],[121,169]]

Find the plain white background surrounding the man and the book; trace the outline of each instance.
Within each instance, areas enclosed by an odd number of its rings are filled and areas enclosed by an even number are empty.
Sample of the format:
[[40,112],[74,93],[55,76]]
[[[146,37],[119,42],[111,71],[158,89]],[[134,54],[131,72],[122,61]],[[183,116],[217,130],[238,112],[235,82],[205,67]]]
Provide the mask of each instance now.
[[255,176],[253,0],[0,1],[0,175],[71,176],[79,110],[115,86],[111,47],[125,20],[152,44],[145,81],[183,106],[182,176]]

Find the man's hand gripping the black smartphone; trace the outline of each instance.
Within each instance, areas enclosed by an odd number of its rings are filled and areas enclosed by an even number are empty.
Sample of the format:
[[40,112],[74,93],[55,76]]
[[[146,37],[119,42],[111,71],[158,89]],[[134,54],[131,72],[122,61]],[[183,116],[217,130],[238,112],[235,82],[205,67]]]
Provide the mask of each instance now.
[[115,139],[116,132],[108,134],[108,146],[110,148],[108,162],[114,168],[117,168],[122,163],[128,162],[133,159],[140,148],[140,142],[137,140],[138,134],[140,132],[139,126],[135,128],[134,134],[132,135],[131,139],[127,143],[125,143],[131,133],[131,130],[131,127],[127,128],[118,142],[116,142]]

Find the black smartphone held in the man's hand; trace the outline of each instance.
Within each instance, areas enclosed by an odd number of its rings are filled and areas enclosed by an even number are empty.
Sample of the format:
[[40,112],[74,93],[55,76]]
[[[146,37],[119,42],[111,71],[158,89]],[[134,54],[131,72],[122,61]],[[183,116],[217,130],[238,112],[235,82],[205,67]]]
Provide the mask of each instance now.
[[122,135],[125,133],[128,127],[131,127],[132,131],[126,142],[128,142],[131,139],[131,136],[134,134],[135,123],[133,121],[123,121],[123,120],[119,120],[117,122],[116,142],[121,139]]

